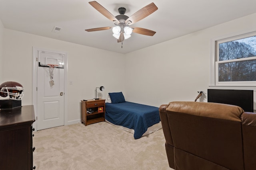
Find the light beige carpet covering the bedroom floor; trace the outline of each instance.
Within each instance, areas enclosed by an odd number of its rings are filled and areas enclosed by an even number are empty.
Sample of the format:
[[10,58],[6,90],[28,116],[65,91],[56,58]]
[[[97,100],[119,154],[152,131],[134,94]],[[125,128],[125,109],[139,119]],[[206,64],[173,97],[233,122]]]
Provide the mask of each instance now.
[[34,132],[36,170],[172,170],[162,129],[134,139],[106,122]]

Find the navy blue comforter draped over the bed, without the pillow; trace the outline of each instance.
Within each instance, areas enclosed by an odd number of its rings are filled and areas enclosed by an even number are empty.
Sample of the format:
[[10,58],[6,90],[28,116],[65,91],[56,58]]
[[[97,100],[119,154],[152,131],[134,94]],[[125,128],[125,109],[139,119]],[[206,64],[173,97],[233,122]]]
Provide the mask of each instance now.
[[134,139],[139,139],[148,127],[159,123],[159,108],[132,102],[106,103],[106,120],[134,129]]

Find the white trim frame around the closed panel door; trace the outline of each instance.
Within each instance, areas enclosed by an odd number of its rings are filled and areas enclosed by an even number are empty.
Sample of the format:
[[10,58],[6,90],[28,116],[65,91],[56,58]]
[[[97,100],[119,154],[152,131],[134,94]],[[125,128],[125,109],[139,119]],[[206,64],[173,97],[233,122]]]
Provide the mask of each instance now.
[[[37,47],[32,47],[32,105],[34,105],[35,117],[37,119],[37,51],[47,51],[50,53],[58,53],[64,55],[64,125],[68,125],[68,93],[67,93],[67,72],[68,72],[68,59],[67,53],[61,51],[53,51],[50,49],[42,49]],[[35,131],[37,131],[37,120],[33,123]]]

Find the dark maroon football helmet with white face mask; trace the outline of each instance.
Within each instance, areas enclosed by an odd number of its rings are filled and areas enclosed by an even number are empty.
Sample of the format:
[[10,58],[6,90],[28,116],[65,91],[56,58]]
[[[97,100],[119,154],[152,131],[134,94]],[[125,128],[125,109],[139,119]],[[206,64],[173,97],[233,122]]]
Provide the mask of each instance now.
[[12,100],[21,100],[24,96],[23,86],[18,82],[4,82],[0,85],[0,96]]

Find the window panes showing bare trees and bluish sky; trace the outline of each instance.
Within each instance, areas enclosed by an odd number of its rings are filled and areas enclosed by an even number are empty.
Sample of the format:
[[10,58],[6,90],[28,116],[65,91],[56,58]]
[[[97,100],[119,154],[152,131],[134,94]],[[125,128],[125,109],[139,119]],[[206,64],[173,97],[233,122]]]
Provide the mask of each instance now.
[[218,82],[256,81],[256,36],[218,43],[217,47]]

